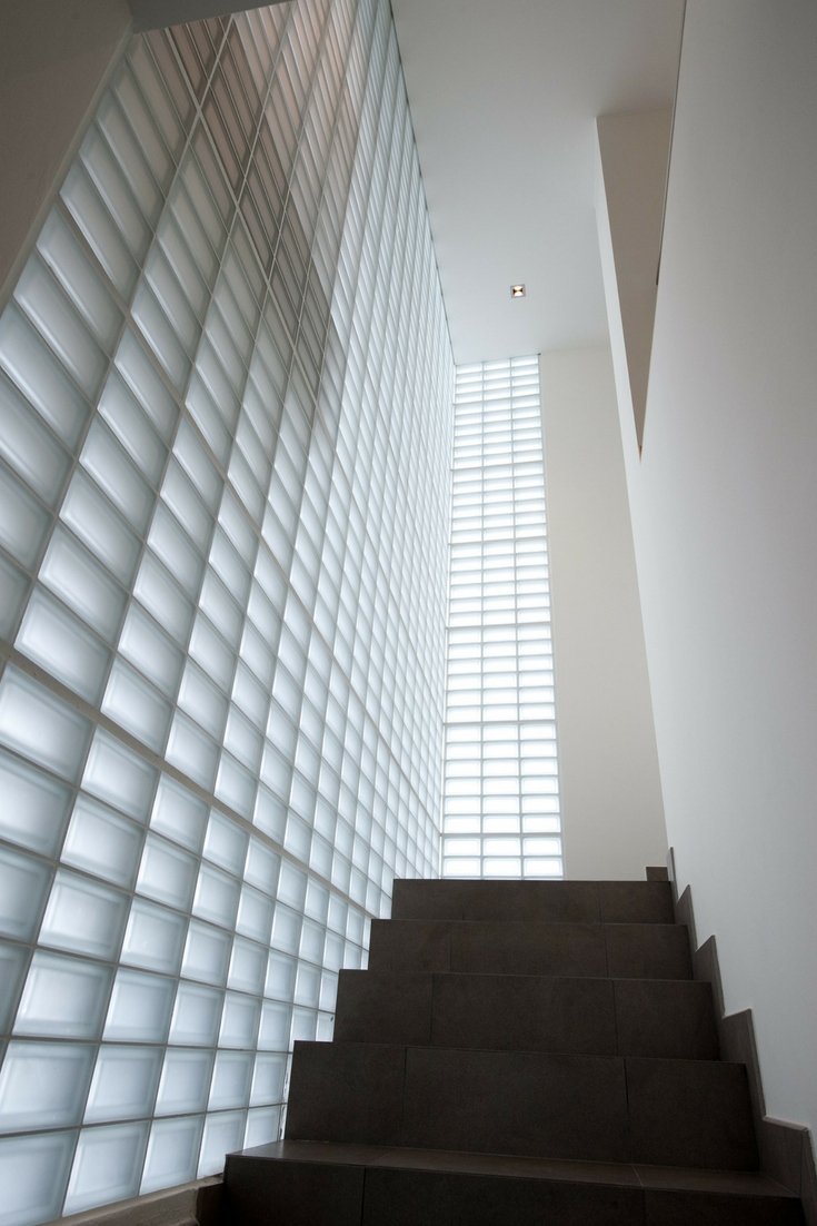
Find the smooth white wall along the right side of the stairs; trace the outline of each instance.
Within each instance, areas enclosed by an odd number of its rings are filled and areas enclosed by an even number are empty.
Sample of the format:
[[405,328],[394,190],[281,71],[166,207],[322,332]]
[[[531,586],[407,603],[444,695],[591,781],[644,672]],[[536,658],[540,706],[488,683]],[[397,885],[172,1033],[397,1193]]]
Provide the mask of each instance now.
[[670,843],[767,1111],[817,1127],[817,7],[690,0],[643,460]]

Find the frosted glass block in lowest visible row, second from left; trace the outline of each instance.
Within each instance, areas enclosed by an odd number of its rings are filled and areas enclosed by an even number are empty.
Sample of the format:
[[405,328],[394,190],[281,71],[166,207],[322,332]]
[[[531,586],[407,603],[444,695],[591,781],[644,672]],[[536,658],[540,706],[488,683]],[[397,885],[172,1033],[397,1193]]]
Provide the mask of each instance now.
[[65,1214],[78,1214],[136,1195],[148,1127],[147,1123],[116,1124],[80,1133]]

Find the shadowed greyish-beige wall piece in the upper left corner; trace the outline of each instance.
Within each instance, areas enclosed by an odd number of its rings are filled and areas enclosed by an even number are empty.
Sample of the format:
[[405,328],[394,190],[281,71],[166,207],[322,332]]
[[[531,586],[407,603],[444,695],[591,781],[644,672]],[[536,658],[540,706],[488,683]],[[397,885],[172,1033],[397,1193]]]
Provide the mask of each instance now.
[[129,34],[124,0],[6,0],[0,38],[0,310]]

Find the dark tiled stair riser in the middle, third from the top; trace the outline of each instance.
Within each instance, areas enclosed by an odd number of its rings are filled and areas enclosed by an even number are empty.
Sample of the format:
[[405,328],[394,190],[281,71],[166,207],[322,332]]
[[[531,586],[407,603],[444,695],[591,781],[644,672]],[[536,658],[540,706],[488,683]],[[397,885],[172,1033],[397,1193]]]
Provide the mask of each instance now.
[[341,971],[334,1038],[718,1058],[712,988],[682,980]]

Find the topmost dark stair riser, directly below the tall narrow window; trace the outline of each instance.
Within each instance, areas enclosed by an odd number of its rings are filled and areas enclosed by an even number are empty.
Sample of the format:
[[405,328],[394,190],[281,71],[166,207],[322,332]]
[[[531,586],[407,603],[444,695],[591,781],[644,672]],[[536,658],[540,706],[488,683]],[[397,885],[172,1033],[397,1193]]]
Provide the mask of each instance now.
[[397,880],[392,920],[674,923],[669,881]]

